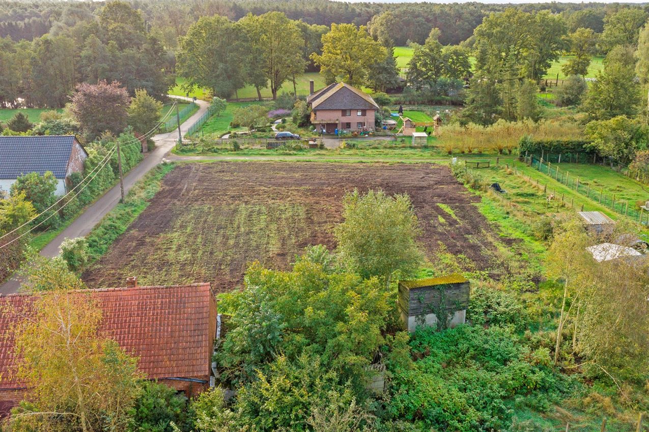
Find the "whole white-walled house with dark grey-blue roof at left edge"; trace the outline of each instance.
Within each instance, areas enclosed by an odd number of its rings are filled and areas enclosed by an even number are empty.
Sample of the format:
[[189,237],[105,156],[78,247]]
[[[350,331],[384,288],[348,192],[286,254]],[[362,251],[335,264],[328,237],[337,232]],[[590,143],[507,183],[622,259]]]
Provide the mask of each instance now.
[[70,175],[83,172],[86,157],[74,135],[0,136],[0,189],[8,192],[23,174],[51,171],[58,180],[55,194],[64,195]]

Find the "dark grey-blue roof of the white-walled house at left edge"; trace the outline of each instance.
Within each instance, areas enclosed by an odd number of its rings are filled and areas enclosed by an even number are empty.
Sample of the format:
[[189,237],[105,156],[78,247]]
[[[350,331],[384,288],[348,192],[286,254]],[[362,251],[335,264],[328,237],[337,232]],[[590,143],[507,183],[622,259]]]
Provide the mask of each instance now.
[[0,136],[0,179],[45,171],[64,179],[74,141],[74,135]]

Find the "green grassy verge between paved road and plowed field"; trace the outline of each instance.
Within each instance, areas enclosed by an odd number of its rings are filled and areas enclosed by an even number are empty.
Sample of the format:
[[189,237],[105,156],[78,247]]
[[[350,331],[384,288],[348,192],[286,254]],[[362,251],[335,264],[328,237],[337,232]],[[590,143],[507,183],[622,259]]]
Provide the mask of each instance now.
[[110,245],[123,234],[129,225],[138,218],[149,205],[149,200],[160,190],[164,176],[175,164],[161,164],[147,173],[130,190],[124,203],[119,203],[88,234],[88,254],[90,261],[99,259]]

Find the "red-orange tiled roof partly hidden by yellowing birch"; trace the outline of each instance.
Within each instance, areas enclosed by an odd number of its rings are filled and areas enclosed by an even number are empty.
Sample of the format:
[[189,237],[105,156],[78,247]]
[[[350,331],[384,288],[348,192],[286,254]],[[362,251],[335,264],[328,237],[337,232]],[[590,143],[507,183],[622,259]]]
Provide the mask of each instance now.
[[[212,332],[215,333],[216,326],[210,284],[75,293],[90,293],[98,302],[103,313],[99,334],[110,337],[127,354],[138,357],[138,367],[148,378],[209,376],[215,336]],[[0,297],[0,389],[24,387],[11,374],[16,359],[10,329],[16,319],[12,311],[19,310],[29,316],[32,300],[27,294]]]

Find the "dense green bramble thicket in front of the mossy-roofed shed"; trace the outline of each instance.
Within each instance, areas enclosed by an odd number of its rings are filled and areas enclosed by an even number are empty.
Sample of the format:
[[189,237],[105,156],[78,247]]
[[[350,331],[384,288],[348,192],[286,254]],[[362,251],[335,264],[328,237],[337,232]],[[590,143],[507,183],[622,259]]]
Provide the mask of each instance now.
[[391,419],[422,429],[473,432],[511,424],[514,396],[547,407],[563,390],[548,352],[530,352],[511,328],[461,325],[421,328],[410,343],[415,361],[387,361]]

